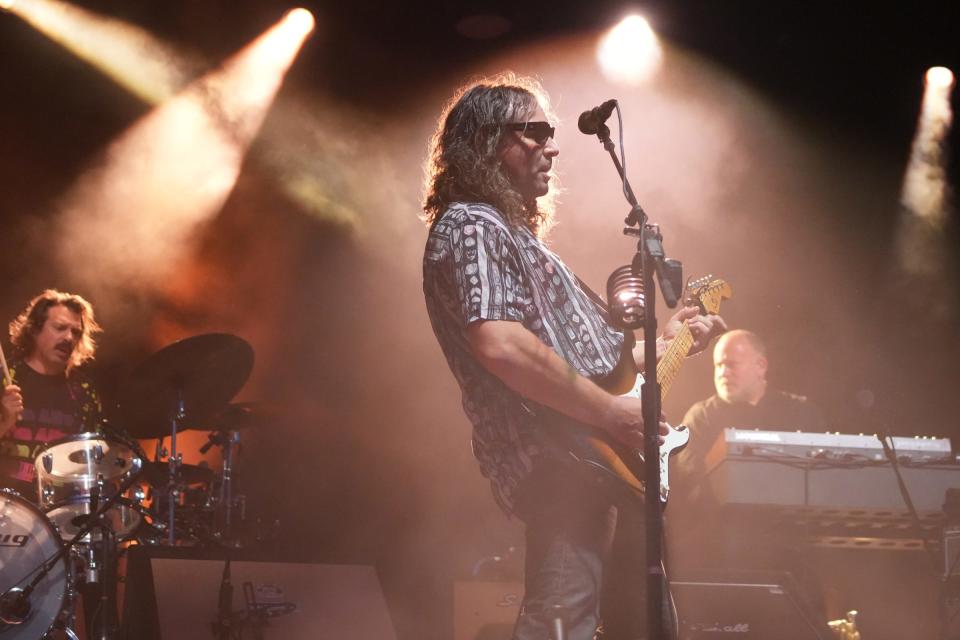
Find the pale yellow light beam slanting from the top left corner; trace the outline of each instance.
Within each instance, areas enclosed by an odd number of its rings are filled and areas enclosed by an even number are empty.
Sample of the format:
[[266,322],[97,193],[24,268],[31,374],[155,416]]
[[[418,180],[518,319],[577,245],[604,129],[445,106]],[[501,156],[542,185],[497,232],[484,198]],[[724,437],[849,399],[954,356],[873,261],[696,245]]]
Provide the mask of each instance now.
[[196,59],[127,22],[59,0],[0,0],[45,36],[100,69],[149,104],[182,89],[202,68]]

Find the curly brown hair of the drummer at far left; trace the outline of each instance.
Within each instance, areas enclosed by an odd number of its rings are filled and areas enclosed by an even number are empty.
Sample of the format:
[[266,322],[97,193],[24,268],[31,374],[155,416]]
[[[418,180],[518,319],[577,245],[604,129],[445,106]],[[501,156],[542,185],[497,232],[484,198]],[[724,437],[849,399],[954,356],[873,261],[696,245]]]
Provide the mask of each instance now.
[[100,333],[100,325],[93,317],[93,305],[83,296],[75,293],[64,293],[56,289],[47,289],[34,297],[17,318],[10,323],[10,344],[13,346],[14,358],[28,357],[37,346],[36,336],[43,329],[47,321],[47,314],[52,307],[64,306],[80,316],[83,326],[83,335],[73,350],[67,369],[79,367],[85,362],[93,360],[97,351],[97,342],[94,335]]

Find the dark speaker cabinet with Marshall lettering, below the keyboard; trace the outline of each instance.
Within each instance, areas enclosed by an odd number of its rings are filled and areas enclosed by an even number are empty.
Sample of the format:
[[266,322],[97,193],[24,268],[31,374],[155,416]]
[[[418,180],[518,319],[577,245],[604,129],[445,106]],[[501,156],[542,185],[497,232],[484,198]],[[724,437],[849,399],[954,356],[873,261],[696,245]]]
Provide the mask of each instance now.
[[744,571],[672,580],[680,640],[827,640],[826,621],[815,621],[792,576]]

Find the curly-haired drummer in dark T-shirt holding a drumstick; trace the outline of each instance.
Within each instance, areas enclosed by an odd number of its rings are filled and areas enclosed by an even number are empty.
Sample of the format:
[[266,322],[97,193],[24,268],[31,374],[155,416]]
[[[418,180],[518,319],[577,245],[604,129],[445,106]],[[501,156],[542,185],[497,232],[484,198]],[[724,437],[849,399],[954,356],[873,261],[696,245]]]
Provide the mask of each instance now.
[[96,431],[100,399],[80,366],[100,326],[79,295],[47,289],[10,323],[10,378],[0,399],[0,487],[36,499],[34,459],[47,443]]

